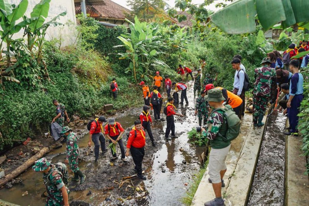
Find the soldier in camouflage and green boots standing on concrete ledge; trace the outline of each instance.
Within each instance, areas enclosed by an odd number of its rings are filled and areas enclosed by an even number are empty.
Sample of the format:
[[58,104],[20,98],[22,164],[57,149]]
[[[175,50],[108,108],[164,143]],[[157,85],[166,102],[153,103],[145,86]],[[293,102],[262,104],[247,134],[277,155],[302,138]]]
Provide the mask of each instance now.
[[261,127],[266,112],[266,107],[271,94],[271,84],[276,77],[274,69],[270,68],[271,61],[264,58],[262,68],[255,69],[256,82],[254,84],[253,94],[253,126]]

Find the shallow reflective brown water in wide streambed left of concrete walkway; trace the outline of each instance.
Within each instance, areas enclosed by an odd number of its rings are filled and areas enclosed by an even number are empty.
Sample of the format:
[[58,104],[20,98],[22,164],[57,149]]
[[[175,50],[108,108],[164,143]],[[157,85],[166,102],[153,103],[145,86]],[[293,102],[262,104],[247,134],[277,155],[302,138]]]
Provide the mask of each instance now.
[[[159,140],[157,147],[160,147],[160,149],[153,154],[153,159],[149,162],[150,166],[146,168],[148,179],[144,181],[144,184],[148,195],[139,205],[182,205],[180,199],[187,190],[184,183],[188,183],[194,172],[200,168],[199,156],[204,151],[204,148],[189,144],[186,133],[192,127],[198,126],[198,120],[194,120],[195,100],[193,97],[192,83],[190,81],[189,84],[191,86],[187,91],[189,104],[186,106],[177,106],[177,112],[186,116],[184,118],[176,116],[175,118],[176,135],[179,138],[173,139],[172,141],[164,141],[166,121],[154,124],[154,128],[162,131],[159,132],[160,137],[155,137],[155,139]],[[128,128],[133,125],[134,120],[138,119],[138,116],[139,113],[129,114],[121,118],[116,118],[116,121],[120,122],[124,128]],[[165,115],[162,114],[162,117],[165,117]],[[79,140],[80,148],[87,147],[88,137],[89,134],[86,134]],[[47,157],[52,157],[52,162],[63,161],[65,158],[65,149],[64,145],[62,148],[50,152]],[[183,160],[187,163],[183,164]],[[81,161],[81,170],[84,170],[87,165],[87,162]],[[4,188],[0,190],[0,199],[22,206],[44,205],[45,198],[41,197],[42,192],[45,191],[42,175],[33,172],[30,168],[19,177],[23,179],[24,185],[14,185],[10,189]],[[69,194],[70,201],[78,199],[93,205],[104,205],[103,201],[108,197],[108,193],[102,190],[87,188],[87,191],[73,191],[74,185],[71,184],[69,188],[72,188]],[[86,194],[89,190],[92,191],[92,195],[87,196]],[[28,195],[22,196],[25,191],[28,191]]]

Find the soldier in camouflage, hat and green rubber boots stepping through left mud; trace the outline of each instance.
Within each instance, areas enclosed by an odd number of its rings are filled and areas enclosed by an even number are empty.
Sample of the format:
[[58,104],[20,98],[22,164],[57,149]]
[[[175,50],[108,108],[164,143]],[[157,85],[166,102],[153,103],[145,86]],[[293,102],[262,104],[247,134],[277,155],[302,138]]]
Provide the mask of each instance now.
[[80,177],[80,184],[83,184],[85,182],[86,175],[84,175],[78,168],[78,137],[69,127],[62,128],[61,134],[64,134],[67,137],[65,162],[70,164],[71,170],[74,172],[74,178],[72,178],[72,180],[78,181],[78,177]]

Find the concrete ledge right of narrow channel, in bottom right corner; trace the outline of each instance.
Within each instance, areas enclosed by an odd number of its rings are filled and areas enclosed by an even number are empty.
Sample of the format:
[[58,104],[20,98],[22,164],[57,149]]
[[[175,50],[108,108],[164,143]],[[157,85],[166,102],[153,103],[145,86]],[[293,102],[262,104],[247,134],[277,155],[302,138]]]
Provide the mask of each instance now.
[[302,143],[302,137],[286,136],[286,206],[309,204],[309,179],[304,174],[306,157],[301,156]]

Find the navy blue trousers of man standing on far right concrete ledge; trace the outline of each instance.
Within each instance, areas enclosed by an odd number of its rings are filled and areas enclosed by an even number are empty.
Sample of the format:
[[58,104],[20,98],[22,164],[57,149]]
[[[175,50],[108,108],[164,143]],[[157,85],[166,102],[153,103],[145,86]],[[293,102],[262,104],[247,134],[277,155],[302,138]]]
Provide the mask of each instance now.
[[295,95],[294,98],[291,101],[291,107],[287,109],[288,115],[289,115],[289,122],[291,127],[291,132],[296,132],[297,124],[298,124],[298,113],[299,113],[299,107],[300,103],[303,100],[304,96],[303,94]]

